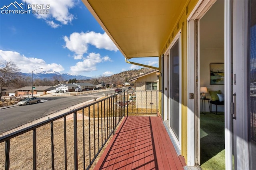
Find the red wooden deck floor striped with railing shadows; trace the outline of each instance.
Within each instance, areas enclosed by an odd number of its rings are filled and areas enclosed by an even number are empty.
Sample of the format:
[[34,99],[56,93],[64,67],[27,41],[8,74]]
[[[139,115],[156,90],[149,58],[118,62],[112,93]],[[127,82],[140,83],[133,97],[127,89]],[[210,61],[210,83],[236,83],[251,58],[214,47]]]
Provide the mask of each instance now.
[[125,117],[95,170],[183,170],[161,117]]

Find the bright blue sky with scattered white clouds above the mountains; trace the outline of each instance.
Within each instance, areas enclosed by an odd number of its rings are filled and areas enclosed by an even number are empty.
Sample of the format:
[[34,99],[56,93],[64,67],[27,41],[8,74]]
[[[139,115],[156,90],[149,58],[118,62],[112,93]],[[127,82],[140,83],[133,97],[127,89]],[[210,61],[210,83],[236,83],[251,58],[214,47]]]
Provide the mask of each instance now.
[[[36,12],[48,14],[32,14],[32,4],[38,5]],[[0,60],[12,60],[23,73],[42,67],[34,73],[99,77],[141,68],[124,61],[80,0],[1,0],[0,8]],[[129,61],[158,67],[157,57]]]

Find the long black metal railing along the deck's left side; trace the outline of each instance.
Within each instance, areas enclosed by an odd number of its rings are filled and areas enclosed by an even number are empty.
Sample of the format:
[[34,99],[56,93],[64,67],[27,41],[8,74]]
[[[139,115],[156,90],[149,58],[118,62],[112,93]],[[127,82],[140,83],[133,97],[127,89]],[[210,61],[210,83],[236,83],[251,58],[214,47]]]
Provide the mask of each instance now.
[[124,117],[125,99],[113,94],[0,136],[0,169],[89,169]]

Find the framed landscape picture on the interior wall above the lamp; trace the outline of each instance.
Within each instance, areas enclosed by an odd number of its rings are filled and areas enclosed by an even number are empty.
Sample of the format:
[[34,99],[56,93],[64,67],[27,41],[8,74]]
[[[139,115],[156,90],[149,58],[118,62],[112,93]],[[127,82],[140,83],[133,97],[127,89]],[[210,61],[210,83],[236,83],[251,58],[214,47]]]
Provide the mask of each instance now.
[[224,63],[210,64],[210,84],[224,85]]

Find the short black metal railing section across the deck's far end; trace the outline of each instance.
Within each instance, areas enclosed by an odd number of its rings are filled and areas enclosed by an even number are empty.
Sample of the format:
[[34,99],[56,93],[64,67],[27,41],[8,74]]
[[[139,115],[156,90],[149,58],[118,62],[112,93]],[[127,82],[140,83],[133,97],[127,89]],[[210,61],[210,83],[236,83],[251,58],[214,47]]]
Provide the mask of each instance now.
[[159,91],[126,91],[128,115],[156,115],[159,109]]

